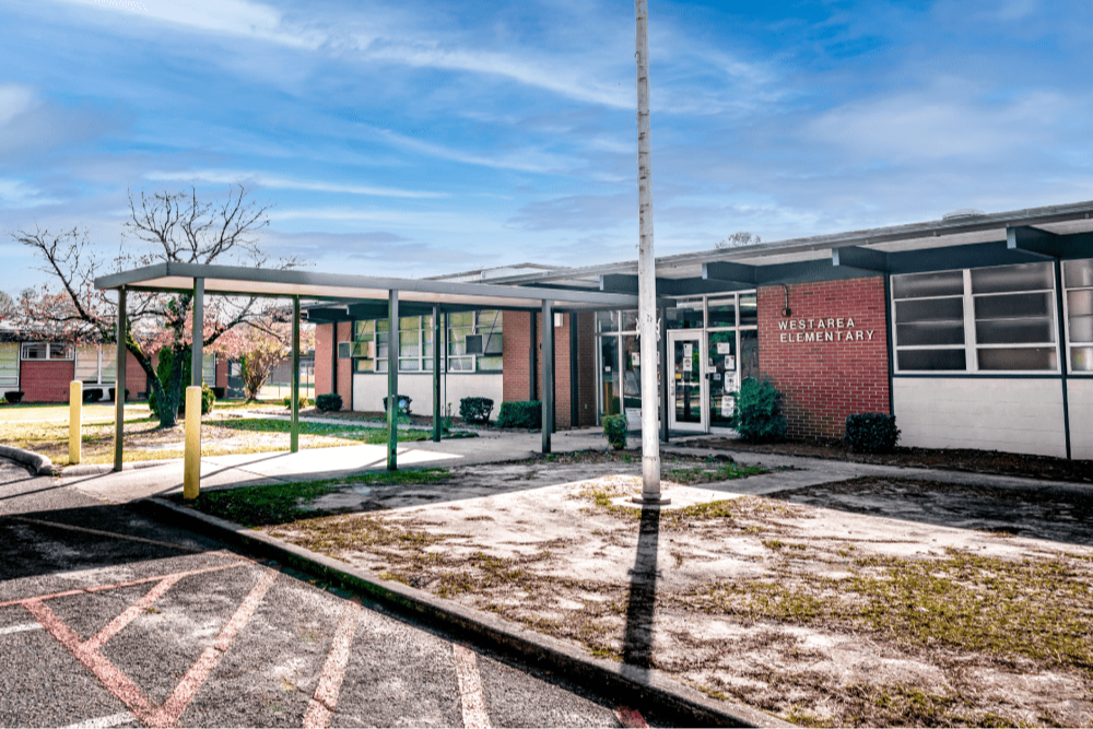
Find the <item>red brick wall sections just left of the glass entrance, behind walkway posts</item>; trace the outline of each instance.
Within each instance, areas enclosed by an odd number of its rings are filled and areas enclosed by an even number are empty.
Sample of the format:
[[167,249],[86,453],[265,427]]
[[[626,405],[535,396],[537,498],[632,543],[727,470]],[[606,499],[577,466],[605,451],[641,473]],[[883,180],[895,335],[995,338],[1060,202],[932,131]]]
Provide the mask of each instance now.
[[[505,346],[503,356],[505,401],[527,400],[530,397],[531,317],[536,317],[538,340],[536,342],[536,392],[542,398],[542,314],[505,311]],[[569,381],[569,327],[574,315],[562,315],[562,326],[554,328],[554,427],[572,427],[571,381]],[[595,315],[579,314],[577,320],[577,403],[579,425],[596,423],[596,337]]]

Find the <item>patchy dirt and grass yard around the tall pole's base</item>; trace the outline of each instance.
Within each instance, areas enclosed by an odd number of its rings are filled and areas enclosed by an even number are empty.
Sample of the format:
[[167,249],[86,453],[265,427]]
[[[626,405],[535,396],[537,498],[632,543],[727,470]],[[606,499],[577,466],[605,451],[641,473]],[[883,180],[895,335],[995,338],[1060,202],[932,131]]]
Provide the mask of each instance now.
[[680,458],[666,479],[691,485],[643,513],[627,457],[336,484],[320,516],[265,529],[802,726],[1093,726],[1088,494],[868,478],[759,497],[740,493],[777,473]]

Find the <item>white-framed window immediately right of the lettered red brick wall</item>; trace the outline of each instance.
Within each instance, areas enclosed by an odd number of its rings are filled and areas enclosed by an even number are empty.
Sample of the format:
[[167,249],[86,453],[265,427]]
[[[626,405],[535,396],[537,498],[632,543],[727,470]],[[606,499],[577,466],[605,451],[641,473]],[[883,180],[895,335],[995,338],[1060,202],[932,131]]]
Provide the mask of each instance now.
[[1058,372],[1050,263],[892,277],[897,372]]

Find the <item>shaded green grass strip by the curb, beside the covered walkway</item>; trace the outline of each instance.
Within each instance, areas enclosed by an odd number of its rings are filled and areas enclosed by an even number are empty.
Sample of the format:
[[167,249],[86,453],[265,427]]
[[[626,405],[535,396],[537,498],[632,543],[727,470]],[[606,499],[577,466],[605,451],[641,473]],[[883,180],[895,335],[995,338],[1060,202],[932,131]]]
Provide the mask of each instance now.
[[322,514],[308,508],[308,504],[319,496],[341,491],[345,486],[435,483],[448,475],[448,470],[443,468],[365,473],[346,479],[207,491],[192,502],[183,502],[180,494],[175,494],[172,498],[204,514],[255,528],[289,524]]

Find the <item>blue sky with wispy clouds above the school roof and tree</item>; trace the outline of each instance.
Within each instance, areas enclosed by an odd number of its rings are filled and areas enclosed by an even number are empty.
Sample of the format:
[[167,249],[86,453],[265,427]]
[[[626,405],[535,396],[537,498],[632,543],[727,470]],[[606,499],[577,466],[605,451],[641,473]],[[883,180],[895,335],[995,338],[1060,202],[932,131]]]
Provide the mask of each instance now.
[[[658,255],[1093,199],[1093,3],[650,0]],[[274,252],[422,277],[636,257],[621,0],[0,1],[7,233],[243,183]]]

